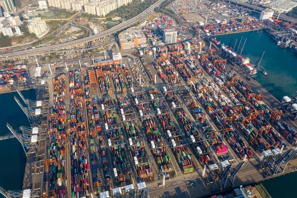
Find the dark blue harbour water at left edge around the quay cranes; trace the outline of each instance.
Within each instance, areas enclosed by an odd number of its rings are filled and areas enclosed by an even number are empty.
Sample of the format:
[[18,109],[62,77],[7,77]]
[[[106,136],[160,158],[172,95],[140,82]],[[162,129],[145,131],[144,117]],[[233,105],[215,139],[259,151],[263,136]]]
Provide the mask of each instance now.
[[[22,91],[22,94],[27,99],[36,100],[35,89]],[[30,127],[14,96],[21,101],[17,92],[0,94],[0,136],[10,132],[6,123],[14,130],[20,126]],[[26,160],[25,152],[16,138],[0,141],[0,187],[12,191],[22,190]]]

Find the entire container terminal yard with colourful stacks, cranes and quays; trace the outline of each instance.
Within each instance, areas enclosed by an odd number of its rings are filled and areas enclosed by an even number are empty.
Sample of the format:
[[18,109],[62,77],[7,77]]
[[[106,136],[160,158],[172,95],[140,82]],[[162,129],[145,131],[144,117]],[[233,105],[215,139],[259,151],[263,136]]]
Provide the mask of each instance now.
[[31,128],[8,123],[0,137],[17,138],[27,155],[22,191],[0,193],[198,198],[296,171],[297,93],[280,102],[255,89],[257,71],[229,68],[241,58],[229,51],[244,44],[231,46],[224,59],[211,45],[178,46],[65,64],[35,84],[36,101],[11,85]]

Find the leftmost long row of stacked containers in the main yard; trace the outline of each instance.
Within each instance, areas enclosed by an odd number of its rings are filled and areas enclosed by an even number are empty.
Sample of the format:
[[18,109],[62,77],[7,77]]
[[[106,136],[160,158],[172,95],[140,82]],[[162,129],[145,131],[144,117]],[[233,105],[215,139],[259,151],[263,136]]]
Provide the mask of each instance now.
[[48,134],[51,140],[49,158],[46,165],[49,169],[47,192],[54,191],[60,197],[66,196],[66,111],[65,93],[66,76],[57,75],[52,82],[53,108],[49,116]]

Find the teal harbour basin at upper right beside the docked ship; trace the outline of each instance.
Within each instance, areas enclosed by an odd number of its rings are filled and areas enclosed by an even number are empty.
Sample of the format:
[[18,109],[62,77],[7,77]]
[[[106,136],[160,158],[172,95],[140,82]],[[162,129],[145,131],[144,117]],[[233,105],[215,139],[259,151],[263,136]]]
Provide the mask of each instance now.
[[276,41],[263,30],[226,34],[216,36],[216,38],[221,41],[221,44],[229,45],[234,36],[233,43],[237,38],[238,44],[241,34],[244,35],[243,40],[247,37],[242,55],[248,57],[249,63],[252,65],[259,59],[263,49],[266,50],[259,70],[266,70],[267,75],[264,76],[259,72],[256,80],[277,99],[282,99],[286,95],[291,96],[297,90],[297,54],[294,49],[284,49],[277,46]]

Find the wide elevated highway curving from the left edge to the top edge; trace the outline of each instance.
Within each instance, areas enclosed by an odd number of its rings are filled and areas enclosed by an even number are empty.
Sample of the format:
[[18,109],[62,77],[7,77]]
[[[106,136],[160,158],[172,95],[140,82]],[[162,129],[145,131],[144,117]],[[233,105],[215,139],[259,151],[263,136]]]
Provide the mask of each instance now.
[[138,14],[137,16],[128,19],[126,21],[123,21],[122,23],[104,30],[98,34],[95,35],[91,35],[89,37],[86,38],[82,38],[82,39],[78,39],[75,41],[71,41],[68,43],[63,43],[63,44],[57,44],[57,45],[52,45],[52,46],[46,46],[46,47],[41,47],[41,48],[35,48],[35,49],[31,49],[31,50],[22,50],[22,51],[17,51],[14,53],[6,53],[6,54],[1,54],[0,55],[0,60],[9,60],[9,59],[16,59],[16,58],[20,58],[20,57],[26,57],[26,56],[34,56],[34,55],[39,55],[42,53],[49,53],[49,52],[54,52],[56,50],[62,50],[65,48],[71,48],[72,46],[76,46],[78,44],[81,43],[87,43],[96,39],[100,39],[103,38],[105,36],[109,36],[113,33],[119,32],[127,27],[130,27],[132,25],[134,25],[135,23],[140,22],[141,20],[145,19],[148,14],[152,13],[153,10],[158,7],[163,1],[165,0],[158,0],[156,1],[154,4],[152,4],[151,6],[149,6],[145,11],[143,11],[142,13]]

